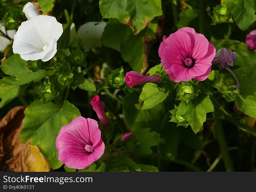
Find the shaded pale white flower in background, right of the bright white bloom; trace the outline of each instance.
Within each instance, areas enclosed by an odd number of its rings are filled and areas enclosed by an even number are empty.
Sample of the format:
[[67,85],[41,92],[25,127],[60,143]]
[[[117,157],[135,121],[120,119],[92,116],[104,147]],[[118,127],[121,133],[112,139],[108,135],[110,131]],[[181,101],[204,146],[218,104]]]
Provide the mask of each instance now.
[[80,26],[77,36],[85,40],[84,49],[86,51],[93,47],[101,47],[101,36],[106,26],[106,22],[88,22]]

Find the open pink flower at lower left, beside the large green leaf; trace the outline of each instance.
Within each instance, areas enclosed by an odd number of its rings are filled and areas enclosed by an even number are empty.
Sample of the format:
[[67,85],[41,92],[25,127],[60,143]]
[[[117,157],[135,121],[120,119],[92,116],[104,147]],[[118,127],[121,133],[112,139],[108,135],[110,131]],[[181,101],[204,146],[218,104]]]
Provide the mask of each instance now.
[[67,167],[84,169],[103,155],[105,145],[97,121],[79,116],[61,128],[56,148],[58,159]]

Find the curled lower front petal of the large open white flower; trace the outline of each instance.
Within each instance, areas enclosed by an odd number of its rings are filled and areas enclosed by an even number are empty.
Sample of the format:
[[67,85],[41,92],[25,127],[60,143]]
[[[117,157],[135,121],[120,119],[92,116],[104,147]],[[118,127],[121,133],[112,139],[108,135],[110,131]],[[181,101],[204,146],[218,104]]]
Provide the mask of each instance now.
[[[42,52],[31,52],[29,54],[20,54],[20,57],[26,61],[35,61],[35,60],[38,60],[38,59],[44,59],[45,60],[45,57],[46,59],[48,59],[50,56],[52,56],[51,58],[53,58],[53,56],[56,54],[55,49],[57,50],[57,43],[56,43],[56,40],[52,40],[50,43],[49,43],[49,46],[47,47],[47,49],[45,49],[44,51]],[[52,51],[54,53],[52,53]],[[49,58],[48,60],[46,61],[49,61],[51,58]],[[43,60],[42,60],[43,61]]]

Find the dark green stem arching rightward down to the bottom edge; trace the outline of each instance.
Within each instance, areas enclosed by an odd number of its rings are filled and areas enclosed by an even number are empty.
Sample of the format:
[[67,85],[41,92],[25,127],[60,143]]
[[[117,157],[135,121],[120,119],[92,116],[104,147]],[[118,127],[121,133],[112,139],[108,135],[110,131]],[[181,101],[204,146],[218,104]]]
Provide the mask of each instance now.
[[160,158],[160,159],[172,162],[172,163],[177,163],[177,164],[180,164],[180,165],[184,165],[184,166],[190,168],[193,171],[202,171],[202,169],[200,169],[199,167],[196,167],[195,165],[193,165],[193,164],[191,164],[191,163],[189,163],[187,161],[184,161],[184,160],[172,160],[172,159],[170,159],[170,158],[168,158],[166,156],[162,156],[162,155],[158,155],[158,154],[138,155],[135,158],[140,158],[140,157]]

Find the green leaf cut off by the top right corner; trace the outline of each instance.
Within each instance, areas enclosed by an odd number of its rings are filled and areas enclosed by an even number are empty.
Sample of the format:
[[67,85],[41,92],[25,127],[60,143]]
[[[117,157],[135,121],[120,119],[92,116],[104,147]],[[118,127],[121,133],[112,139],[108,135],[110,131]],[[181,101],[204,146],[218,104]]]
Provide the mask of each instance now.
[[223,0],[221,4],[227,5],[230,8],[234,21],[243,31],[256,21],[255,0]]

